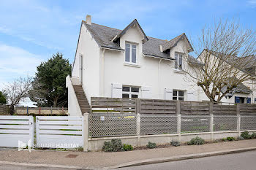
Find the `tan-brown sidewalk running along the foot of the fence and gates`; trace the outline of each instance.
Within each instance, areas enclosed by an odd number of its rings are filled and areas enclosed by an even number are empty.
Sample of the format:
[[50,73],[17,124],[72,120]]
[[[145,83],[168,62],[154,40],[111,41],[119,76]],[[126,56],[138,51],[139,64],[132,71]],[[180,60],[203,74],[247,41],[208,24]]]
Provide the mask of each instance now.
[[[129,152],[61,152],[48,150],[35,150],[29,152],[0,150],[0,161],[43,163],[62,166],[78,166],[89,169],[102,169],[132,161],[143,161],[152,158],[165,158],[205,152],[217,152],[222,150],[234,150],[246,147],[256,147],[256,139],[236,142],[219,142],[198,146],[186,145],[151,150],[135,150]],[[78,156],[76,158],[66,158],[69,154]]]

